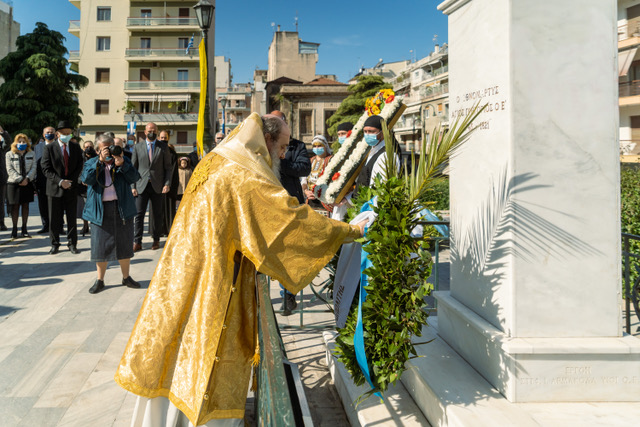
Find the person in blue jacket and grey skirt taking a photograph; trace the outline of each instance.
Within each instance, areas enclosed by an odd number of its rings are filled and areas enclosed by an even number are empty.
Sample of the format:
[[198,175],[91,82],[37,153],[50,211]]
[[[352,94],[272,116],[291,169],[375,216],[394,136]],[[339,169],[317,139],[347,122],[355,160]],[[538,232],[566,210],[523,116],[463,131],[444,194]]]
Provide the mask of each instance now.
[[82,182],[87,185],[87,202],[82,218],[91,223],[91,260],[95,261],[98,278],[89,289],[96,294],[104,289],[104,276],[109,261],[118,260],[122,284],[139,288],[129,275],[133,257],[133,218],[136,204],[131,184],[140,174],[123,156],[122,148],[113,145],[113,138],[100,135],[98,157],[88,160],[82,170]]

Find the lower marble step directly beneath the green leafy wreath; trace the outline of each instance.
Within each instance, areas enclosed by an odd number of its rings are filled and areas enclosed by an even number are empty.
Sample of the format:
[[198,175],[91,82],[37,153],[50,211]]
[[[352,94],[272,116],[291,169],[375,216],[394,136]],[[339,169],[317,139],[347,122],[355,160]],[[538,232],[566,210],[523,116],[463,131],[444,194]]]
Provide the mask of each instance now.
[[385,393],[384,401],[381,402],[376,396],[371,396],[355,407],[353,402],[366,393],[369,387],[356,386],[344,364],[333,356],[336,335],[333,331],[323,332],[327,348],[327,366],[331,371],[331,377],[342,400],[342,406],[352,426],[430,425],[400,382],[397,382],[395,387],[389,387]]

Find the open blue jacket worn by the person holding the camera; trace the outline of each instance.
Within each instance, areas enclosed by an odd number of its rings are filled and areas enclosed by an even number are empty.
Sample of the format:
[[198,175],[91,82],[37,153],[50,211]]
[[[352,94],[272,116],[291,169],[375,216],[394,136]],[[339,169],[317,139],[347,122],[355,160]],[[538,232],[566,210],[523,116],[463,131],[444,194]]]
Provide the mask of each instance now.
[[[102,193],[104,189],[104,165],[100,164],[99,157],[94,157],[84,164],[80,180],[87,184],[87,202],[82,211],[82,218],[91,221],[96,225],[102,225],[104,206],[102,204]],[[140,179],[140,174],[133,167],[131,160],[123,158],[124,163],[115,168],[113,175],[113,186],[118,196],[118,210],[123,220],[136,216],[136,203],[131,194],[131,184]],[[96,168],[98,170],[96,171]],[[96,173],[97,172],[97,173]],[[100,183],[98,183],[98,180]]]

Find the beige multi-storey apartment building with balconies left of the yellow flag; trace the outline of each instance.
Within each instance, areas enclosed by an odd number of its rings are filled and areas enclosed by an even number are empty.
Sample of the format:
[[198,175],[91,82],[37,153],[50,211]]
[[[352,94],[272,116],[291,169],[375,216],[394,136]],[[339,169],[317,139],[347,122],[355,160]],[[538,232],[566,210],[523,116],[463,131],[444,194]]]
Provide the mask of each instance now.
[[[89,79],[78,93],[80,136],[124,136],[127,122],[136,121],[140,139],[144,125],[155,122],[178,151],[190,151],[200,97],[196,0],[69,1],[80,9],[80,20],[69,23],[80,50],[69,62]],[[214,29],[209,33],[211,43]],[[215,61],[209,63],[213,70]]]

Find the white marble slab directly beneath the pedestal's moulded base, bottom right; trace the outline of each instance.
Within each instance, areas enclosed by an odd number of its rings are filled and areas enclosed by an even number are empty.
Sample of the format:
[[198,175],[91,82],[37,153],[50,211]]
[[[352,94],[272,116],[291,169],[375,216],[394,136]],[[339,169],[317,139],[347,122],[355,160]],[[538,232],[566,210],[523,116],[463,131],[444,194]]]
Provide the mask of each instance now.
[[437,335],[429,318],[417,347],[422,357],[407,363],[405,389],[434,426],[630,426],[640,419],[640,403],[512,403]]

